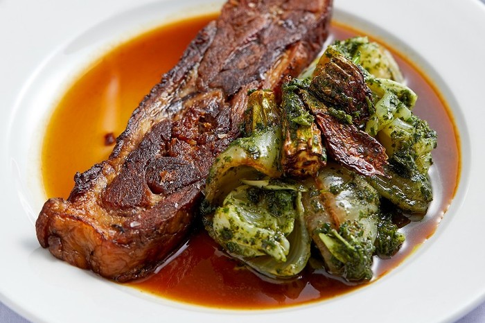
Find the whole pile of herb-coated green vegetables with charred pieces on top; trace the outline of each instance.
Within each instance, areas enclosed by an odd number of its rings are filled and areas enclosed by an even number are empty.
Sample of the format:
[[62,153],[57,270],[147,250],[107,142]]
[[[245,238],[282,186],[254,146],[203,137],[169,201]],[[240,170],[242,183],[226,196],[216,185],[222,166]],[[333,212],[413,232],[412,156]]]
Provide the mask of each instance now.
[[337,41],[285,79],[281,102],[248,95],[242,137],[206,180],[207,232],[267,277],[295,277],[312,256],[335,277],[369,281],[373,257],[405,241],[395,214],[423,216],[432,200],[436,132],[413,114],[391,53],[367,37]]

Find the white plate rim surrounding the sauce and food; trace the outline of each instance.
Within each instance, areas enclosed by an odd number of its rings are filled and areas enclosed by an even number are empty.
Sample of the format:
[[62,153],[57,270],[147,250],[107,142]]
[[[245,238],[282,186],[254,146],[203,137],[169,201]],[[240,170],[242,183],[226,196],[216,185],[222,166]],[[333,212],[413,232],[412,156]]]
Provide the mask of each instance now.
[[[204,3],[201,5],[200,3]],[[485,299],[482,211],[485,7],[477,0],[335,0],[335,19],[377,35],[420,67],[449,103],[461,180],[436,233],[398,268],[330,301],[218,311],[150,297],[54,259],[35,238],[44,202],[39,142],[70,80],[129,37],[211,1],[0,0],[0,300],[35,322],[450,322]]]

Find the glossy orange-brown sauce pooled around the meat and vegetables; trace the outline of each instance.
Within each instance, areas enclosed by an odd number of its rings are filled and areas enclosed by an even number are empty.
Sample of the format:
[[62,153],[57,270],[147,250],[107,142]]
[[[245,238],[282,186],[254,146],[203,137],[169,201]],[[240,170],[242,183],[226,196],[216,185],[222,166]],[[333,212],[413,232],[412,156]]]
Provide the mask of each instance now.
[[[124,130],[139,101],[159,82],[161,74],[175,65],[197,31],[214,17],[195,17],[140,35],[107,53],[73,83],[55,108],[44,139],[42,175],[48,197],[67,198],[74,173],[108,157],[114,146],[110,139]],[[344,39],[357,33],[334,24],[331,35]],[[459,140],[448,110],[416,68],[401,56],[395,57],[407,85],[418,94],[416,114],[438,132],[435,164],[430,172],[434,201],[424,220],[403,229],[407,240],[402,250],[390,260],[375,261],[376,277],[396,267],[433,234],[459,178]],[[310,263],[315,264],[315,259]],[[266,281],[224,254],[203,230],[195,232],[157,274],[131,285],[180,302],[218,308],[290,306],[360,287],[329,279],[323,270],[312,270],[311,265],[297,279]]]

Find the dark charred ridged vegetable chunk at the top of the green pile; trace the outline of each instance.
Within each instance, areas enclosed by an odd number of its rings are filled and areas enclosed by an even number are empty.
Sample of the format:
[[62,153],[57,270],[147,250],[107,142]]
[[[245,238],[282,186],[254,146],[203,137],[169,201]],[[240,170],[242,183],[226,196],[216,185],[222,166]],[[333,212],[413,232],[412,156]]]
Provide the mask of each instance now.
[[313,73],[310,91],[324,103],[351,116],[359,127],[373,111],[372,93],[361,69],[340,53],[326,51]]

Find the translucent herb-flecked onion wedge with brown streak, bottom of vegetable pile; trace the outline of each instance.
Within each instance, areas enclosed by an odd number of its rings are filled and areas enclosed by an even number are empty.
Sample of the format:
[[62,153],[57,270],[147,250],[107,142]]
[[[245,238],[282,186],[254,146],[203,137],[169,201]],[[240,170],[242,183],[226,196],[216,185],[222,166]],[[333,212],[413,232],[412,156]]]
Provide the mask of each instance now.
[[314,181],[303,207],[328,272],[349,281],[371,279],[380,196],[363,177],[334,164]]

